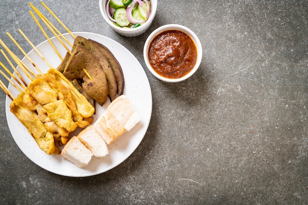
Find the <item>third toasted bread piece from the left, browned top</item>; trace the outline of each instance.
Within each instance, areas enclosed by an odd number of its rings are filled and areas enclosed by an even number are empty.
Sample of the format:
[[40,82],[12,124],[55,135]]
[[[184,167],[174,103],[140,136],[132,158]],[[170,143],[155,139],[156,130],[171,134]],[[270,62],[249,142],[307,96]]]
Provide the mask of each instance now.
[[93,124],[93,128],[100,134],[107,145],[113,143],[126,130],[123,125],[106,110]]

